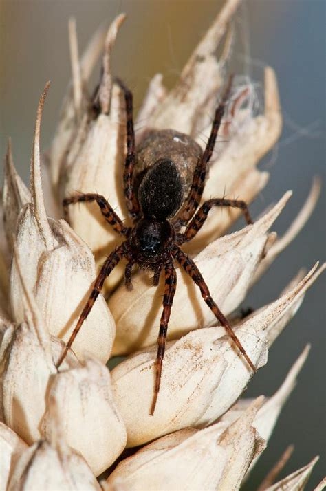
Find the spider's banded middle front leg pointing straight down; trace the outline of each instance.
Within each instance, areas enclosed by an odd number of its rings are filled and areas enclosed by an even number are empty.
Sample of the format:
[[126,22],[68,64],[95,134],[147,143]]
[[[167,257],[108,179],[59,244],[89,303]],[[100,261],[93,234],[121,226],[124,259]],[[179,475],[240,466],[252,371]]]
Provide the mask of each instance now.
[[162,364],[165,351],[166,334],[168,330],[168,323],[171,314],[171,307],[173,303],[173,297],[175,294],[175,288],[177,287],[177,274],[173,263],[165,265],[165,288],[163,297],[163,312],[160,320],[160,332],[157,339],[157,356],[155,362],[155,387],[153,401],[151,405],[151,415],[153,416],[157,401],[157,395],[160,391],[160,383],[162,376]]

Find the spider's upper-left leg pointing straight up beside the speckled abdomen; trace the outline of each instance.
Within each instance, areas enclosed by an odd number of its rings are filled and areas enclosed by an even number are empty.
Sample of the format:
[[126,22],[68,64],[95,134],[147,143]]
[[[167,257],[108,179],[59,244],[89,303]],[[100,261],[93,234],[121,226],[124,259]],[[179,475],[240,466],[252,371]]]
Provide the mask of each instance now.
[[132,218],[136,218],[140,212],[140,206],[138,204],[137,196],[133,191],[133,168],[135,166],[135,131],[133,129],[133,94],[122,83],[122,81],[116,78],[120,89],[124,93],[124,101],[126,104],[126,116],[127,116],[127,155],[124,162],[123,173],[123,189],[124,199],[126,200],[129,215]]

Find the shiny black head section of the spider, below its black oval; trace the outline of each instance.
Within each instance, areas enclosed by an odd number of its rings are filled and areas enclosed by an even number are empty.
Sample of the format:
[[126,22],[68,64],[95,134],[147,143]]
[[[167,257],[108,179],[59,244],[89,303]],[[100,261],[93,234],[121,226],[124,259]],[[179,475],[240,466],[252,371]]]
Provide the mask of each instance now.
[[133,232],[133,246],[140,263],[155,263],[160,259],[171,241],[172,228],[169,221],[141,219]]

